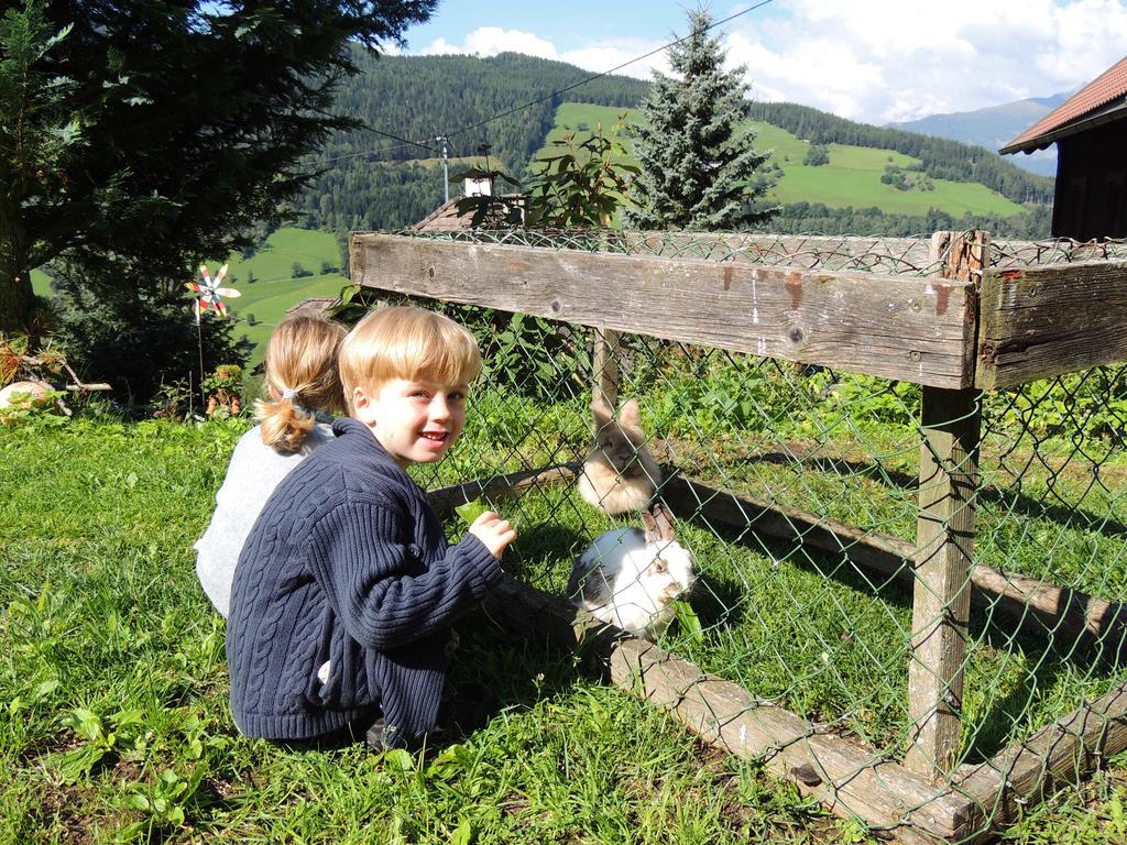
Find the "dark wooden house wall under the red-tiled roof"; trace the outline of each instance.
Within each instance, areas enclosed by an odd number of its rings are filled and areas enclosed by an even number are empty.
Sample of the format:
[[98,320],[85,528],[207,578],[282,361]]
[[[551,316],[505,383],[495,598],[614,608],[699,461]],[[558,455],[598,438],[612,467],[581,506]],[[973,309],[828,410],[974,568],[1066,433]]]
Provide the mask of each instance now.
[[1127,118],[1057,142],[1053,234],[1127,237]]

